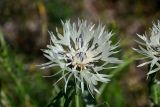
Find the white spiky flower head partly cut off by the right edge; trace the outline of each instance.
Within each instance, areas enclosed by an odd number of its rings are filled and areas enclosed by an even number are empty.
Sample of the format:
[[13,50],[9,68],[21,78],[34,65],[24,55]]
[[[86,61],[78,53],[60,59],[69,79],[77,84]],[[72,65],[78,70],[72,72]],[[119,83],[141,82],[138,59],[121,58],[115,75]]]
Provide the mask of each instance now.
[[[150,69],[147,73],[149,76],[150,74],[160,70],[160,22],[158,21],[157,24],[153,24],[150,36],[138,35],[138,37],[142,40],[142,42],[137,41],[139,43],[139,49],[134,48],[134,50],[145,56],[142,59],[150,59],[149,61],[138,65],[138,67],[150,64]],[[154,68],[154,65],[157,67]]]

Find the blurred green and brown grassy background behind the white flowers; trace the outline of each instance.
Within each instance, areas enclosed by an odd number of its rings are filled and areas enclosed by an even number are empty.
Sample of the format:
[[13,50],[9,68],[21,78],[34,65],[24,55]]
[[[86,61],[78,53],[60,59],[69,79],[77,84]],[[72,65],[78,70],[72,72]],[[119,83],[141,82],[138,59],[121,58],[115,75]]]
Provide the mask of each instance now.
[[47,61],[40,49],[49,43],[48,30],[61,30],[61,20],[78,18],[100,21],[120,40],[117,57],[124,63],[106,71],[114,77],[99,86],[97,105],[150,107],[147,66],[136,67],[142,61],[135,60],[132,47],[136,34],[149,32],[160,18],[160,0],[0,0],[0,107],[45,107],[56,96],[63,88],[63,82],[53,86],[59,76],[42,76],[57,68],[42,71],[35,65]]

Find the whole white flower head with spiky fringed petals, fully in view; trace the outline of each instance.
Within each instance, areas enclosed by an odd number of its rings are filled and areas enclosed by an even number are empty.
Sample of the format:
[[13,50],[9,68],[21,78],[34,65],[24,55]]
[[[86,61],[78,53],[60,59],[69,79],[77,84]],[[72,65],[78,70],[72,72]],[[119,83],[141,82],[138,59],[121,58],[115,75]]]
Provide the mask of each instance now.
[[[51,43],[44,49],[44,56],[49,62],[41,64],[41,69],[59,66],[64,79],[65,91],[70,78],[74,77],[76,85],[84,92],[84,84],[87,85],[92,94],[96,89],[98,82],[108,83],[109,75],[100,74],[99,71],[107,69],[109,63],[121,63],[111,55],[117,53],[114,51],[117,44],[112,45],[111,32],[105,31],[105,26],[99,24],[95,27],[92,23],[84,20],[78,20],[78,23],[70,23],[70,20],[63,25],[63,35],[57,31],[57,35],[49,32]],[[99,63],[101,62],[101,64]],[[112,68],[112,67],[111,67]],[[57,81],[57,82],[58,82]]]

